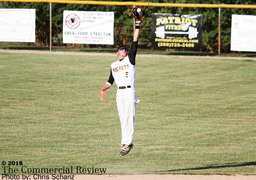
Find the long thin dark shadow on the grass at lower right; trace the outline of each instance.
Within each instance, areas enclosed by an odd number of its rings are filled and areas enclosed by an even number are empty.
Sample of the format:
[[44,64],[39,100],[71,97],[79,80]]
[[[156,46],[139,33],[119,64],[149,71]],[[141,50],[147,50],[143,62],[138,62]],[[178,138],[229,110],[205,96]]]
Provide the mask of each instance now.
[[174,170],[164,170],[164,171],[156,171],[156,172],[178,172],[178,171],[189,171],[189,170],[207,170],[207,169],[218,169],[218,168],[225,168],[225,167],[243,167],[243,166],[255,166],[256,162],[233,162],[227,163],[223,165],[216,165],[216,166],[206,166],[206,167],[194,167],[194,168],[186,168],[186,169],[174,169]]

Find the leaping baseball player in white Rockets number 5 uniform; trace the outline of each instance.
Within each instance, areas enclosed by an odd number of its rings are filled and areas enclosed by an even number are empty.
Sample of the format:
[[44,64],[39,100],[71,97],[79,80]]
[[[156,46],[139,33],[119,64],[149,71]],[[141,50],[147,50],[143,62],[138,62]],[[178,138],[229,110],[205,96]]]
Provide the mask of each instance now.
[[133,148],[134,120],[136,104],[139,102],[135,88],[135,57],[138,47],[138,36],[141,21],[136,21],[131,49],[122,44],[117,49],[118,61],[111,64],[110,77],[101,88],[100,98],[104,102],[107,98],[105,90],[109,89],[114,81],[117,85],[116,103],[121,122],[122,140],[120,157],[125,157]]

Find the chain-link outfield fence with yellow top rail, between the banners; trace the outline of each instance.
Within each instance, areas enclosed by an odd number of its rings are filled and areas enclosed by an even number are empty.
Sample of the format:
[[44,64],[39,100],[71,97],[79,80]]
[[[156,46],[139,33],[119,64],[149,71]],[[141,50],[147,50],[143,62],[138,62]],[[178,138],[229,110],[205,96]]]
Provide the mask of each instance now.
[[[146,20],[141,24],[140,48],[151,49],[152,13],[202,14],[203,52],[230,52],[231,14],[256,15],[256,5],[181,4],[152,2],[116,2],[84,0],[3,0],[0,8],[36,9],[36,41],[34,43],[0,42],[0,49],[112,49],[128,43],[132,37],[133,22],[128,15],[131,7],[145,6]],[[114,11],[114,44],[63,44],[63,10]],[[120,18],[121,17],[121,18]],[[116,18],[118,18],[116,20]],[[130,21],[127,21],[127,19]],[[122,21],[123,22],[122,22]],[[172,51],[172,49],[168,49]]]

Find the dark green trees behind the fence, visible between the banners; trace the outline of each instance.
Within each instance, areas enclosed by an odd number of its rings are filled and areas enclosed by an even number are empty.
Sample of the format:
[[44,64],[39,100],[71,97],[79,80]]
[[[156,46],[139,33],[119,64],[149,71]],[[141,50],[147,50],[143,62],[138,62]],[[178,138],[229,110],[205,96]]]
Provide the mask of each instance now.
[[[130,0],[108,0],[130,1]],[[170,3],[170,0],[138,0],[137,2]],[[195,3],[195,4],[253,4],[255,0],[173,0],[171,3]],[[36,45],[49,46],[50,42],[50,9],[49,3],[17,3],[2,2],[0,8],[34,8],[36,9]],[[117,5],[81,5],[52,3],[52,40],[53,44],[64,46],[62,43],[63,10],[81,11],[114,11],[114,46],[118,44],[131,44],[133,37],[133,21],[129,15],[131,6]],[[202,51],[218,51],[218,8],[184,8],[184,7],[146,7],[146,19],[141,23],[140,43],[141,48],[151,48],[151,29],[153,13],[173,14],[202,14]],[[256,9],[222,8],[221,9],[221,49],[230,51],[231,17],[232,14],[256,15]],[[84,46],[84,45],[77,45]],[[105,47],[106,45],[88,45],[91,47]],[[113,47],[113,46],[110,46]]]

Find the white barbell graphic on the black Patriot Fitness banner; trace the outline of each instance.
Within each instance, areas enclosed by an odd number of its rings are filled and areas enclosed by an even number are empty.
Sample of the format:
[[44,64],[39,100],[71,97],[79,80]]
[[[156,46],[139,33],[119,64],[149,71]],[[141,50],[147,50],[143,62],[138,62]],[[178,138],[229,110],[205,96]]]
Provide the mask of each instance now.
[[188,39],[193,39],[197,37],[198,31],[197,28],[193,28],[191,26],[188,27],[188,31],[182,32],[182,31],[165,31],[165,26],[157,27],[156,36],[158,38],[165,38],[165,34],[188,34]]

